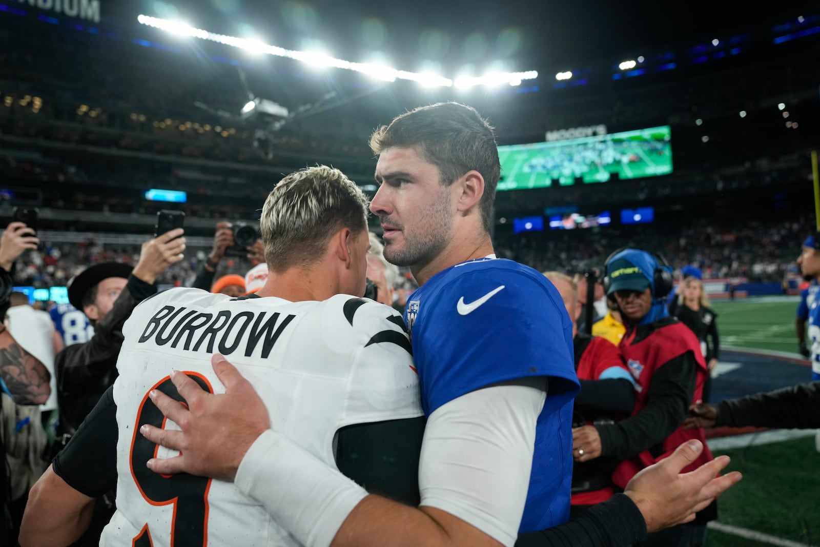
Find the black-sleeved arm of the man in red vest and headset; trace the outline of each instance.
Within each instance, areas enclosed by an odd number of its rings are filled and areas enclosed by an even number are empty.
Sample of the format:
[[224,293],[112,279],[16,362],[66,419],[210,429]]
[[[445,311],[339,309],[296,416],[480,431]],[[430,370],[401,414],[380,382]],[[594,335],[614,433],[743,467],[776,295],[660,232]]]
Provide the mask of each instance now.
[[626,459],[672,434],[686,420],[698,364],[691,352],[673,358],[654,372],[644,408],[613,424],[595,426],[601,454]]

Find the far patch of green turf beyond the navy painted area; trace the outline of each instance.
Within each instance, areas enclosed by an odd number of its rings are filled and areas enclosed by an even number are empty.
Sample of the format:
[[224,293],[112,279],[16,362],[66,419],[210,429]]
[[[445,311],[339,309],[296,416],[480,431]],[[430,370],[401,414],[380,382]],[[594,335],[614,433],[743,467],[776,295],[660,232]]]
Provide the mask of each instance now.
[[722,345],[797,352],[796,299],[717,300],[712,304]]

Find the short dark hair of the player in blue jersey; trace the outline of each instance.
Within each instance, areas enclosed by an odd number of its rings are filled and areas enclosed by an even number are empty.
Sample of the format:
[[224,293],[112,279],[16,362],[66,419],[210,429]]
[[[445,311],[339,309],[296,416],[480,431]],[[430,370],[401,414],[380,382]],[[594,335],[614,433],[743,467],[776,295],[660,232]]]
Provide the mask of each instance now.
[[377,129],[371,136],[370,148],[376,155],[388,148],[416,148],[438,167],[440,183],[444,186],[452,185],[467,171],[481,173],[484,177],[481,221],[490,233],[501,163],[493,127],[475,108],[459,103],[419,107]]

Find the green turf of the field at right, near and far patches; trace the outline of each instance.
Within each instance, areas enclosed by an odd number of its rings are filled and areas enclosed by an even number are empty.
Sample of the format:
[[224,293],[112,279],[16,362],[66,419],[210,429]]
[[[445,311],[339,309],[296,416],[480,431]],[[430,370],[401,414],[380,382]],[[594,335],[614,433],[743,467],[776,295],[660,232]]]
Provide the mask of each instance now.
[[[713,302],[721,344],[796,353],[796,306],[796,299],[778,297]],[[752,540],[710,529],[706,545],[820,545],[820,454],[814,437],[759,445],[754,445],[754,438],[750,441],[744,448],[713,451],[728,454],[729,470],[744,475],[721,496],[717,522],[771,537]]]

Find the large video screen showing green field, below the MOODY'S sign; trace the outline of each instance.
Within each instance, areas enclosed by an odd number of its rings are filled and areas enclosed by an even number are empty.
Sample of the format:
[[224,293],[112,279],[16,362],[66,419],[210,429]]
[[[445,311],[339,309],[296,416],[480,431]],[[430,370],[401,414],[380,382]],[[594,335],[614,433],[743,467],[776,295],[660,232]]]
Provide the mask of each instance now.
[[668,175],[672,131],[668,125],[547,143],[499,146],[499,190],[546,188]]

